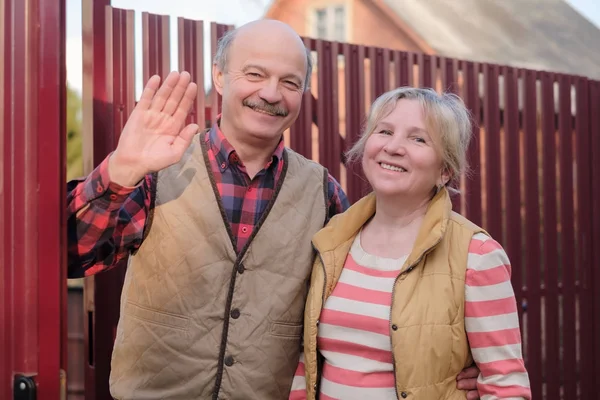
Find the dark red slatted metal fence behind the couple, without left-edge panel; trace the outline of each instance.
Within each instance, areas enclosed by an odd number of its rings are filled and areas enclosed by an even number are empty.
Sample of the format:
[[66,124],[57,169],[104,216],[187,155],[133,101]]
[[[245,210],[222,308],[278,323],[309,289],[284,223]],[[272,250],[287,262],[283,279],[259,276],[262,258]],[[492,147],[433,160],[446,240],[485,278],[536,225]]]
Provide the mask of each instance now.
[[[94,79],[90,99],[98,101],[103,97],[96,94],[106,90],[108,106],[87,115],[95,127],[100,121],[109,127],[93,137],[96,165],[114,147],[135,99],[133,14],[111,8],[99,14],[98,3],[94,7],[94,23],[106,18],[109,39],[102,48],[97,38],[102,27],[87,37],[97,46],[93,58],[100,60],[94,62],[94,78],[102,60],[107,62],[106,80]],[[144,80],[170,70],[168,26],[166,17],[143,14]],[[201,21],[178,19],[179,69],[199,83],[204,82],[204,57],[214,54],[216,39],[227,29],[211,23],[211,46],[205,49],[203,27]],[[469,150],[472,173],[462,179],[455,208],[482,224],[512,261],[534,398],[595,398],[600,393],[600,247],[593,242],[600,239],[600,210],[592,199],[600,198],[600,82],[310,38],[305,44],[316,60],[312,91],[286,141],[326,166],[352,201],[368,187],[356,166],[344,166],[342,153],[357,139],[368,105],[379,94],[413,85],[463,97],[476,125]],[[88,96],[91,90],[88,86]],[[191,120],[214,121],[218,101],[214,92],[199,95]],[[106,394],[123,269],[112,274],[95,278],[95,305],[88,307],[95,311],[96,342],[87,354],[94,354],[89,368],[96,371],[86,383],[103,394],[97,398]],[[102,317],[101,308],[108,310]]]

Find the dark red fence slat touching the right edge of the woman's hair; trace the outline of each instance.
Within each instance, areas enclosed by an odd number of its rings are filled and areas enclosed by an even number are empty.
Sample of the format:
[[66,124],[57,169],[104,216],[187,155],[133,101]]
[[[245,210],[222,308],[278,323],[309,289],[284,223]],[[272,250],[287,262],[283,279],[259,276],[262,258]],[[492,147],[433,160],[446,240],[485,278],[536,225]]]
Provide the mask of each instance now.
[[480,149],[480,99],[479,99],[479,65],[473,62],[463,62],[464,98],[473,117],[473,135],[469,144],[468,159],[471,174],[465,179],[466,216],[473,223],[482,224],[481,215],[481,149]]

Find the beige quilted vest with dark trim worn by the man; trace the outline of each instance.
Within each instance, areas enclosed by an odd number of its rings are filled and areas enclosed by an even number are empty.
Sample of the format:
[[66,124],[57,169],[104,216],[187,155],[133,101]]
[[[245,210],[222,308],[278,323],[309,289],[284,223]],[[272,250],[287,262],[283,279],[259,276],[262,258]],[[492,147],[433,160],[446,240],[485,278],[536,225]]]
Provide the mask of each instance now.
[[276,201],[236,254],[201,138],[158,174],[151,227],[125,277],[111,394],[287,399],[326,170],[286,149]]

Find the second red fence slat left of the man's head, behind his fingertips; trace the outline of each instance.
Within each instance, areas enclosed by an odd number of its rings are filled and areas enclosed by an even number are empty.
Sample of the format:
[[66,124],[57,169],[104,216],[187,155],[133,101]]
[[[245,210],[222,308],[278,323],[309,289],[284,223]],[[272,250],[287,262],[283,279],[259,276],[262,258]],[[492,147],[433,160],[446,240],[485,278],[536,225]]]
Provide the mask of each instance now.
[[198,84],[198,94],[187,123],[206,127],[204,94],[204,22],[177,19],[179,70],[188,71],[192,82]]

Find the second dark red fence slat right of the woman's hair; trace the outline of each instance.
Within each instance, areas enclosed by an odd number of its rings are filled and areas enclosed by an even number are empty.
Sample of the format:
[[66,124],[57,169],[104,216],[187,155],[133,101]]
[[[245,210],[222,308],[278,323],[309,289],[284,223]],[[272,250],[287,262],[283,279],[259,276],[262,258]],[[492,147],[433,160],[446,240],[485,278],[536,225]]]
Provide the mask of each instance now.
[[483,119],[485,126],[486,230],[496,240],[502,241],[498,66],[485,64],[483,71],[485,81]]

